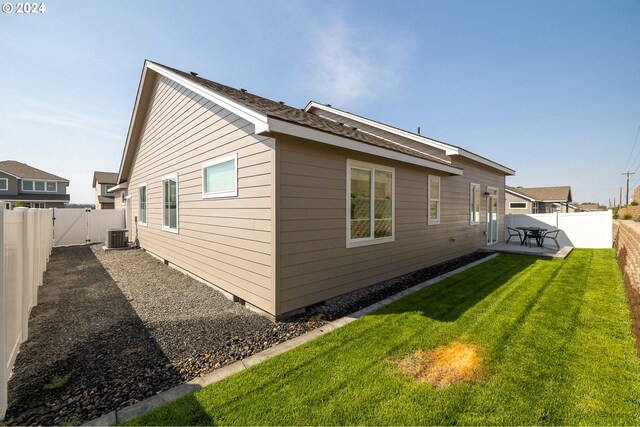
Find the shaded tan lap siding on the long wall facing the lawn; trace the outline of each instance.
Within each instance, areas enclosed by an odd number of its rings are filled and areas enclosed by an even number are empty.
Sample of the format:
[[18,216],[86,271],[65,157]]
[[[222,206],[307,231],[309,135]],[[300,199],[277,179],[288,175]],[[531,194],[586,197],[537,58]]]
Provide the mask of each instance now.
[[[481,224],[469,224],[469,184],[499,189],[504,221],[504,175],[454,158],[463,176],[449,176],[287,136],[278,138],[279,313],[339,296],[378,281],[475,251],[485,244]],[[395,168],[395,241],[346,248],[347,159]],[[427,225],[428,175],[441,176],[441,221]],[[500,233],[502,238],[502,232]]]

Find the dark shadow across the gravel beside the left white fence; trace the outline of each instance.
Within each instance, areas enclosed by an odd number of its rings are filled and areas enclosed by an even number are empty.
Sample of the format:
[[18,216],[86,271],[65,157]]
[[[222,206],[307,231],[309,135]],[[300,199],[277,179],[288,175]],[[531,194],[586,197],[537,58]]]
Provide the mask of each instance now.
[[89,246],[55,248],[9,381],[9,424],[79,424],[180,384]]

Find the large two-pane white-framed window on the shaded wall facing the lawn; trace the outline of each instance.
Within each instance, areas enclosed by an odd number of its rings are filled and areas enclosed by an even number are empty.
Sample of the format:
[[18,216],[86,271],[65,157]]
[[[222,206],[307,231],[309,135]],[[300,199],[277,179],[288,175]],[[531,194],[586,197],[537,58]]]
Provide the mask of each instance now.
[[347,161],[347,247],[394,239],[393,168]]

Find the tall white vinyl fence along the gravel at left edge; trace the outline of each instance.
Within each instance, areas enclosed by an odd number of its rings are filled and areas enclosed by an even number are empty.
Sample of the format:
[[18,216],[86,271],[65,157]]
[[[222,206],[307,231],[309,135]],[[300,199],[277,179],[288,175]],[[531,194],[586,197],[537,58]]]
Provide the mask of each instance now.
[[31,308],[53,244],[51,209],[0,209],[0,420],[7,411],[7,381],[26,341]]

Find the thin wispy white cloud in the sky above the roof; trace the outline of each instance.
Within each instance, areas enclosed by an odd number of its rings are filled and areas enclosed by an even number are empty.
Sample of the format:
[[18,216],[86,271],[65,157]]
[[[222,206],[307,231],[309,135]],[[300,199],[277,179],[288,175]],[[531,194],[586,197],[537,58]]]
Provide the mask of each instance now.
[[350,105],[384,97],[399,88],[417,40],[387,29],[356,29],[344,21],[312,30],[310,91],[323,101]]

